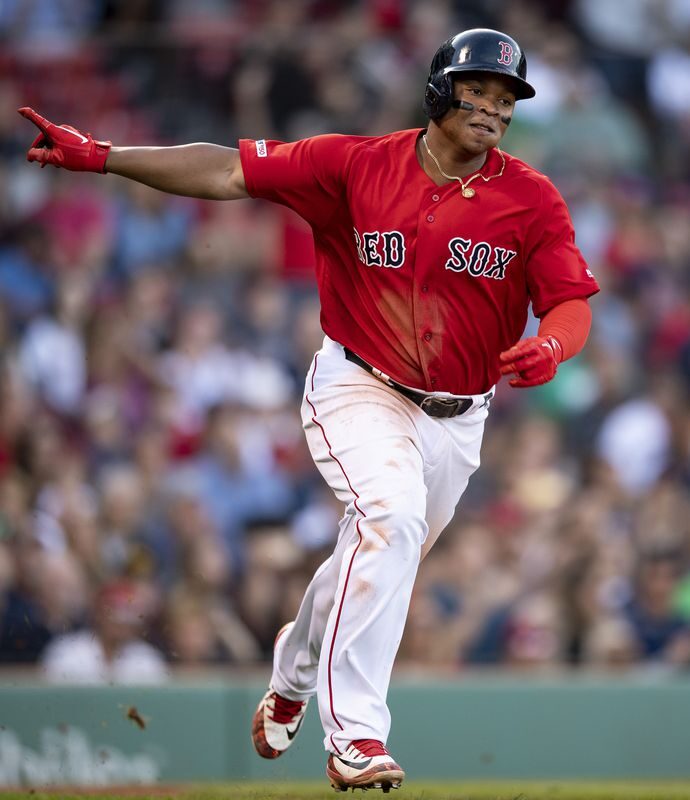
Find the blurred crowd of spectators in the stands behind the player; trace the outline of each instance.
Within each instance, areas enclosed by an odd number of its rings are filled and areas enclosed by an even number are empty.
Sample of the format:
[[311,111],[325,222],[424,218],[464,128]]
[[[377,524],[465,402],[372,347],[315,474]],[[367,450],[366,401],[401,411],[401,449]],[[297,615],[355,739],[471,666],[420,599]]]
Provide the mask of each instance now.
[[527,52],[505,149],[560,188],[602,292],[556,381],[498,387],[398,663],[690,666],[686,0],[1,3],[1,663],[266,662],[341,511],[299,419],[306,225],[29,166],[16,108],[116,144],[424,126],[431,56],[475,26]]

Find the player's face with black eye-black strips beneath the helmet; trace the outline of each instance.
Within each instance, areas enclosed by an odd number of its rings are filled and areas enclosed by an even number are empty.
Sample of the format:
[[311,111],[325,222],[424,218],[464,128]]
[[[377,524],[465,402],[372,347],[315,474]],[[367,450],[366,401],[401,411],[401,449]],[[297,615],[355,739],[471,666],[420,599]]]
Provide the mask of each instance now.
[[453,82],[456,100],[466,100],[473,111],[460,108],[447,115],[453,139],[471,153],[495,147],[506,132],[515,108],[509,79],[500,75],[468,75]]

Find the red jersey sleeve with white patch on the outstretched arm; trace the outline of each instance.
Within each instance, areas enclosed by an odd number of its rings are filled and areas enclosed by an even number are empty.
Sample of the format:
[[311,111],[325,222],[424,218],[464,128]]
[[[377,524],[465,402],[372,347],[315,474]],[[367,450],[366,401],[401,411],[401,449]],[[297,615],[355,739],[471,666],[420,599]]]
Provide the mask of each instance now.
[[241,139],[240,159],[251,197],[281,203],[310,225],[323,227],[344,199],[354,142],[338,134],[297,142]]

